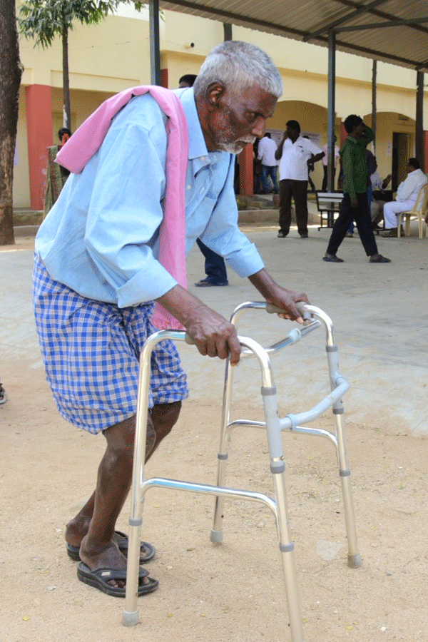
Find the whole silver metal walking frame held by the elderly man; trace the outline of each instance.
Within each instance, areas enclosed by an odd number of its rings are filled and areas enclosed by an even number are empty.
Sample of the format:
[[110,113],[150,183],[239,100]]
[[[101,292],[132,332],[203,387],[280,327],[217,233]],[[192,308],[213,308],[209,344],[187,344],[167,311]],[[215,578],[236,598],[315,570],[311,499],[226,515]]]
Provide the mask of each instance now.
[[[320,308],[312,305],[300,303],[297,304],[297,307],[299,307],[299,310],[305,320],[304,325],[295,327],[283,339],[270,347],[262,347],[258,342],[250,339],[249,337],[238,337],[242,348],[241,358],[255,356],[260,365],[262,377],[261,394],[263,398],[265,422],[250,421],[248,419],[239,419],[230,422],[234,369],[233,367],[230,367],[229,359],[226,360],[223,416],[220,429],[220,451],[218,452],[218,474],[217,484],[215,486],[198,484],[191,481],[165,479],[161,477],[144,479],[151,352],[158,342],[165,339],[175,341],[186,340],[188,343],[192,342],[185,332],[173,330],[161,330],[151,335],[151,337],[148,337],[148,340],[146,340],[141,352],[140,380],[138,385],[133,482],[131,488],[131,517],[129,519],[130,528],[128,567],[126,575],[126,598],[122,616],[122,623],[124,626],[133,626],[137,624],[139,620],[137,605],[138,565],[140,558],[140,531],[143,523],[143,501],[148,489],[161,487],[215,496],[213,529],[211,530],[211,541],[214,543],[219,543],[223,540],[223,505],[225,498],[258,501],[271,509],[272,513],[275,515],[277,525],[282,570],[285,579],[288,616],[290,620],[291,642],[303,642],[302,616],[300,613],[300,601],[297,590],[294,543],[290,536],[287,495],[285,489],[285,457],[282,447],[282,431],[326,437],[335,445],[337,462],[339,465],[339,475],[342,481],[342,499],[344,504],[345,528],[348,542],[347,563],[348,566],[352,568],[357,568],[361,565],[361,556],[357,545],[357,532],[350,479],[351,472],[347,459],[344,408],[342,402],[342,395],[345,394],[347,389],[349,389],[349,384],[339,372],[337,346],[335,345],[333,326],[330,317],[320,310]],[[248,309],[266,310],[270,313],[283,312],[283,310],[270,303],[247,302],[235,309],[230,321],[236,325],[240,316]],[[277,411],[277,389],[273,381],[270,355],[279,352],[287,345],[300,341],[305,337],[305,335],[316,330],[322,325],[324,325],[326,331],[326,352],[331,392],[310,410],[300,412],[298,414],[287,414],[286,417],[280,418]],[[335,419],[334,433],[324,429],[302,426],[302,424],[307,424],[317,419],[317,417],[320,417],[321,414],[326,412],[330,407],[332,408],[332,414]],[[266,430],[270,454],[270,472],[272,472],[274,486],[274,499],[263,493],[233,489],[225,486],[228,442],[230,442],[230,435],[233,429],[241,426],[257,427]]]

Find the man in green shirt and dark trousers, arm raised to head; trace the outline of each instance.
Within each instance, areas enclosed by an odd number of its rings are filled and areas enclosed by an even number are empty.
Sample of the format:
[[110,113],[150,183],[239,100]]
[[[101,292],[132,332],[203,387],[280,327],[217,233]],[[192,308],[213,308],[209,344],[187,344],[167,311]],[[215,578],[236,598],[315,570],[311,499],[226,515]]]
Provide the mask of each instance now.
[[327,252],[322,259],[329,263],[343,263],[343,259],[338,258],[336,253],[352,220],[355,220],[361,243],[367,256],[370,256],[370,263],[389,263],[389,259],[377,251],[367,202],[368,170],[365,148],[373,141],[374,133],[362,122],[362,118],[355,114],[345,118],[344,126],[348,136],[340,150],[344,173],[343,200],[340,204],[340,214],[333,225]]

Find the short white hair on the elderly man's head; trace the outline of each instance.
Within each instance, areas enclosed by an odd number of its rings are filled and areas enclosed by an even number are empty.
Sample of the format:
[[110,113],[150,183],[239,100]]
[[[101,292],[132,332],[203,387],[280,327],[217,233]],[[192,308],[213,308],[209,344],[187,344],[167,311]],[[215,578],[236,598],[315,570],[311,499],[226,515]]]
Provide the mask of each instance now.
[[238,92],[259,85],[277,98],[282,95],[282,79],[272,58],[248,42],[228,40],[210,51],[193,85],[195,96],[203,96],[214,82]]

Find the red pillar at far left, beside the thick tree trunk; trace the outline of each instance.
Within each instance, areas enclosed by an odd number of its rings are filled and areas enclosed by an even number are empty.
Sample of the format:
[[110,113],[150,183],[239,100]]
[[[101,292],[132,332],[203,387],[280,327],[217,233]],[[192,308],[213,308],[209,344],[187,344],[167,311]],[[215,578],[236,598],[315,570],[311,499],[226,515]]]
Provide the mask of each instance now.
[[25,90],[31,210],[43,210],[46,190],[46,148],[52,145],[52,93],[48,85]]

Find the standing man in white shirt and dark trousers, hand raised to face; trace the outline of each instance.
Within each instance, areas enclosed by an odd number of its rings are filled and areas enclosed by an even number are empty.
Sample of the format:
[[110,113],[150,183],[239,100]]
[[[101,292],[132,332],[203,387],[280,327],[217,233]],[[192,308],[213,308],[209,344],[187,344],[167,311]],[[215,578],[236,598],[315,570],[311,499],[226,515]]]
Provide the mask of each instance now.
[[308,168],[320,161],[324,152],[309,138],[300,136],[297,121],[288,121],[275,158],[280,161],[280,231],[285,238],[290,231],[291,199],[294,198],[297,229],[307,238],[307,178]]

